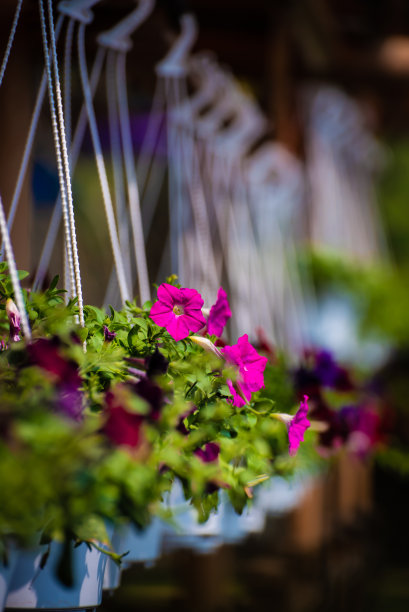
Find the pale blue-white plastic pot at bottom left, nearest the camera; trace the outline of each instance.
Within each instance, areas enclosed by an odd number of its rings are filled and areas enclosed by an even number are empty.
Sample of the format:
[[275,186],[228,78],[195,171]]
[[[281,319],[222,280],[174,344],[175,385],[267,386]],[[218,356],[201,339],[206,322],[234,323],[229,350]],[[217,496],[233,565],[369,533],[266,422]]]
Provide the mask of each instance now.
[[59,542],[52,542],[45,566],[40,562],[47,546],[21,551],[13,572],[6,600],[7,608],[72,609],[94,608],[101,603],[102,584],[107,556],[82,543],[72,544],[74,584],[65,587],[56,577],[57,565],[63,550]]

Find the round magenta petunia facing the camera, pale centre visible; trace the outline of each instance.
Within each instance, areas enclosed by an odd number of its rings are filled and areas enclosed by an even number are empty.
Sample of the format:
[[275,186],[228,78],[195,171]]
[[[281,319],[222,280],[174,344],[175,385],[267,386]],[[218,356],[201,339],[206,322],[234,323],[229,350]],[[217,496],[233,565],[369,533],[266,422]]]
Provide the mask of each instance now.
[[202,306],[202,296],[196,289],[178,289],[163,283],[158,287],[158,301],[150,317],[156,325],[165,327],[174,340],[183,340],[190,331],[198,332],[206,325]]

